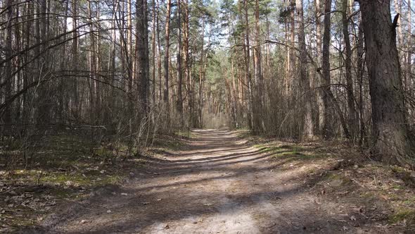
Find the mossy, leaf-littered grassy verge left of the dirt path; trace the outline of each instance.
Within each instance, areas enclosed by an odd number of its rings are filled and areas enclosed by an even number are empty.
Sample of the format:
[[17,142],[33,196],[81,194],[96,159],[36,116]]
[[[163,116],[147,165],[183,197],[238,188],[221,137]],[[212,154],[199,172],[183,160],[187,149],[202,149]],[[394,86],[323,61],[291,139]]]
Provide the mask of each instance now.
[[[0,162],[13,161],[0,164],[0,233],[32,226],[56,204],[86,198],[97,187],[117,185],[146,164],[139,155],[127,154],[124,144],[90,142],[79,135],[44,137],[26,158],[18,144],[8,145],[8,150],[0,147]],[[177,137],[161,137],[154,145],[170,150],[182,144]]]

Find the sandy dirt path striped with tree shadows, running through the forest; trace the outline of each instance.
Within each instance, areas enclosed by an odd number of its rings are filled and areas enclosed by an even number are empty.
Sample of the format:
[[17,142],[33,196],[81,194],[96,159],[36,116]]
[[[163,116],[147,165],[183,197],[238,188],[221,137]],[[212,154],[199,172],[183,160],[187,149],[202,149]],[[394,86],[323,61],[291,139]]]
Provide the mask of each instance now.
[[[56,233],[360,233],[307,192],[298,168],[229,130],[194,130],[120,188],[57,214]],[[343,220],[343,221],[342,221]],[[362,231],[363,232],[363,231]],[[367,230],[366,230],[366,233]],[[370,231],[369,231],[370,233]]]

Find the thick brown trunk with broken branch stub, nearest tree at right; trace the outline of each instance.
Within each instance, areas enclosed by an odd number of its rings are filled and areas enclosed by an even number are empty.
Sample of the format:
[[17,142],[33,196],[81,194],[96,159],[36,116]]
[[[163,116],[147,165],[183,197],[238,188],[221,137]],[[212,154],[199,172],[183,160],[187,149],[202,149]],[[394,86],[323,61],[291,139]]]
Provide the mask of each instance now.
[[389,0],[361,0],[372,106],[372,153],[388,163],[414,157],[405,116],[400,61],[396,47],[397,17],[391,21]]

